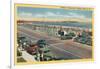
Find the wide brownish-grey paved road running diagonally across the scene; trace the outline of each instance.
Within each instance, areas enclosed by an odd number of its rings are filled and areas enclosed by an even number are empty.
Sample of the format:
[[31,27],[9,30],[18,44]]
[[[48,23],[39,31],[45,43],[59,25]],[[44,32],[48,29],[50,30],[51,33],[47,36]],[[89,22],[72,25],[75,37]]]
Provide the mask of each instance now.
[[91,58],[92,49],[90,46],[83,46],[71,40],[59,40],[58,38],[50,37],[47,34],[34,31],[24,26],[18,26],[18,32],[28,37],[30,40],[45,39],[51,48],[51,52],[61,59],[79,59]]

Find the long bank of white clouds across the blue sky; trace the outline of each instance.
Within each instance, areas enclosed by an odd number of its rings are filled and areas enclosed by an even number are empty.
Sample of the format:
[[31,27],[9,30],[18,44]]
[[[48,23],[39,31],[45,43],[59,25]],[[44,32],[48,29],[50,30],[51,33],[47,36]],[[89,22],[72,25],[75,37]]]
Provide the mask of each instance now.
[[66,15],[64,14],[60,14],[59,12],[57,13],[53,13],[53,12],[46,12],[46,13],[36,13],[36,14],[32,14],[32,13],[28,13],[28,12],[22,12],[19,14],[19,17],[56,17],[56,18],[86,18],[84,15],[79,15],[76,13],[68,13]]

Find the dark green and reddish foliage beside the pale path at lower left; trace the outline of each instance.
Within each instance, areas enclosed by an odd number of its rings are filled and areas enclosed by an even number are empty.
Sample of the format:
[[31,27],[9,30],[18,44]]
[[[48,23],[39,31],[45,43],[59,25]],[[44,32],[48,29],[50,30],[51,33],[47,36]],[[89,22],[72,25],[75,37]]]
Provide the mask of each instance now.
[[23,50],[30,55],[34,55],[37,61],[53,60],[53,55],[46,40],[38,40],[36,43],[30,44],[26,37],[18,37],[17,42]]

